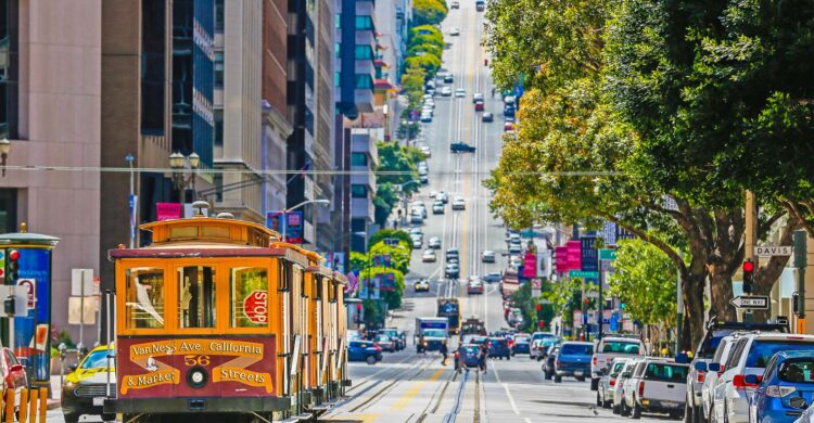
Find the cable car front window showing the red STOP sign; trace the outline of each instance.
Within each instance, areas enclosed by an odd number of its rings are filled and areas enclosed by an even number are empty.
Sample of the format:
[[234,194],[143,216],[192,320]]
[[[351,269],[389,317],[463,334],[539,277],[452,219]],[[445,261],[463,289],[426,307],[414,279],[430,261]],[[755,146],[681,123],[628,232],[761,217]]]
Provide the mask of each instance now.
[[229,326],[268,326],[268,270],[232,268],[229,281]]

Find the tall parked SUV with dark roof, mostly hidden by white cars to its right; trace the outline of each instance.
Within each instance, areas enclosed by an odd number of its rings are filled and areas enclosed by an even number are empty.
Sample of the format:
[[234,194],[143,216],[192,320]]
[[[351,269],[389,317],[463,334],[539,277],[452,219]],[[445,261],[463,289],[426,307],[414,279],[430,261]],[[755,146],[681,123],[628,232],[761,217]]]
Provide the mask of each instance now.
[[745,323],[745,322],[725,322],[710,320],[707,324],[707,332],[701,338],[701,343],[692,356],[692,362],[689,366],[689,374],[687,375],[687,399],[685,406],[685,421],[687,423],[701,423],[701,389],[703,388],[703,381],[705,371],[698,370],[698,362],[704,364],[710,362],[715,348],[721,343],[724,336],[727,336],[736,331],[772,331],[772,332],[789,332],[788,324],[781,323]]

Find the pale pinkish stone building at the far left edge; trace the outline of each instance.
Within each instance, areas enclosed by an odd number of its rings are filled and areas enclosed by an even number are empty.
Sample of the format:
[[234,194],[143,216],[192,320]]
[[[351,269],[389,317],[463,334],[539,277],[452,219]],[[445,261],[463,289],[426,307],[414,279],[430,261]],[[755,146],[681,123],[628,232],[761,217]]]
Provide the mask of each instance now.
[[[98,274],[100,265],[101,3],[0,1],[0,138],[11,142],[0,231],[26,222],[30,232],[62,240],[52,256],[50,329],[69,330],[77,341],[78,328],[67,324],[71,272]],[[78,171],[39,169],[46,166]],[[86,345],[96,341],[88,328]]]

